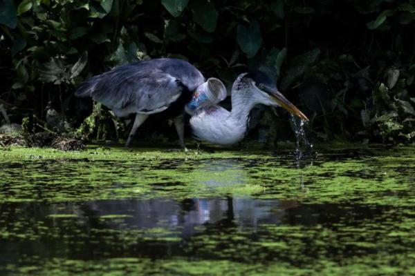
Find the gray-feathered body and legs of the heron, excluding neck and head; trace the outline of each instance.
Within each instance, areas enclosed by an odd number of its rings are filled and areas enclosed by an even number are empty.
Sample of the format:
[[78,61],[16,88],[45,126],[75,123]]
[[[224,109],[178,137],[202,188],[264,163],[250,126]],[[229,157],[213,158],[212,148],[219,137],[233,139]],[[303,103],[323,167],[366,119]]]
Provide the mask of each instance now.
[[149,59],[114,68],[91,77],[75,92],[92,97],[118,117],[136,114],[125,146],[137,128],[154,113],[166,112],[172,118],[182,147],[184,144],[185,104],[205,78],[192,64],[181,59]]

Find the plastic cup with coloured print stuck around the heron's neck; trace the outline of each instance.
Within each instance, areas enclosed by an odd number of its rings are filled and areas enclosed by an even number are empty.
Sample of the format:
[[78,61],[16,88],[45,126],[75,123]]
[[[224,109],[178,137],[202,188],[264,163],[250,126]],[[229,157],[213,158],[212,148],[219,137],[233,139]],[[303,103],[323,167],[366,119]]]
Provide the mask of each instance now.
[[193,115],[196,110],[213,106],[223,101],[226,96],[226,88],[222,81],[210,78],[194,90],[192,100],[187,103],[185,110],[187,114]]

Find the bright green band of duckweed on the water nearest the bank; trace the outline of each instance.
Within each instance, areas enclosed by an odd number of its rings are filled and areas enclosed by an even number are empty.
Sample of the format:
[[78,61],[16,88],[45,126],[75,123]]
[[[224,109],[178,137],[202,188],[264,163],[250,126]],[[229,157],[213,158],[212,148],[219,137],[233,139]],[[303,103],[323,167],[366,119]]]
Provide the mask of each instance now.
[[299,169],[292,157],[269,152],[13,148],[0,156],[5,168],[0,171],[0,202],[234,195],[310,204],[414,204],[413,152],[386,153],[333,161],[317,155],[314,164]]

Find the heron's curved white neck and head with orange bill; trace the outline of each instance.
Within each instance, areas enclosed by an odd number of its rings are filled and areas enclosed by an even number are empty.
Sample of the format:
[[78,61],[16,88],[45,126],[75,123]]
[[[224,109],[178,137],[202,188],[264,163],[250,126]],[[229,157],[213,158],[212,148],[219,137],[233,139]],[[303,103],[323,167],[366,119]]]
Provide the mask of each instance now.
[[235,144],[246,134],[249,113],[257,104],[281,106],[293,115],[308,121],[308,118],[288,101],[275,83],[264,72],[243,73],[234,81],[231,92],[231,111],[214,105],[196,112],[190,126],[196,139],[212,144]]

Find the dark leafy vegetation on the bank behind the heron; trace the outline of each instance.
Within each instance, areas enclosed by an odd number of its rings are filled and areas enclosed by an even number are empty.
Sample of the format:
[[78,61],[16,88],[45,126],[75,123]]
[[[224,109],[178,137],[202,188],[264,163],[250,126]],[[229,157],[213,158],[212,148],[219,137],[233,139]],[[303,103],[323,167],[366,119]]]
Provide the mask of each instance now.
[[[414,141],[414,0],[4,0],[0,14],[0,104],[19,124],[44,120],[50,101],[77,127],[91,114],[73,98],[81,81],[178,57],[227,84],[243,70],[264,70],[311,118],[316,140]],[[252,123],[278,130],[270,143],[293,137],[286,113],[266,113]],[[111,119],[96,122],[89,117],[78,134],[114,139]]]

